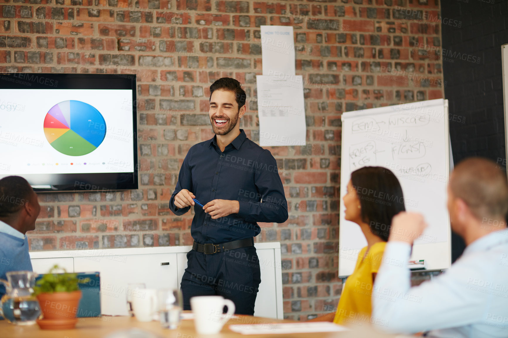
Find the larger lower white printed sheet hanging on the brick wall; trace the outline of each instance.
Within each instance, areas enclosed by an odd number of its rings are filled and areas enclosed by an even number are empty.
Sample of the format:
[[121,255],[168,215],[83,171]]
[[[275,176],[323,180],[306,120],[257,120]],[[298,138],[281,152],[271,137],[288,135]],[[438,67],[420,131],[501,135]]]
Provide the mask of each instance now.
[[304,146],[303,79],[257,76],[260,146]]

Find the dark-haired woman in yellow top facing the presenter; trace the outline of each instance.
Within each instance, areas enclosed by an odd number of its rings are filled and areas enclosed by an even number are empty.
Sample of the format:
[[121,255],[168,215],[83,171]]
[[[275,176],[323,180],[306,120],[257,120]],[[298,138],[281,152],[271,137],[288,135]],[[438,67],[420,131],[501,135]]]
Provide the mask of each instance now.
[[405,211],[404,195],[399,181],[390,170],[366,166],[351,173],[347,193],[342,200],[344,218],[360,226],[367,246],[360,250],[355,270],[342,286],[337,312],[311,321],[362,324],[371,321],[370,297],[374,279],[383,259],[392,218]]

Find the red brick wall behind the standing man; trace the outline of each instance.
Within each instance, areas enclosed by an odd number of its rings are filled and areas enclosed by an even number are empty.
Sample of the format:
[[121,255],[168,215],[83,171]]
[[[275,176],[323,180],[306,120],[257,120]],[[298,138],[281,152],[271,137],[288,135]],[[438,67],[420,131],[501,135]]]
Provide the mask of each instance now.
[[441,60],[430,51],[441,40],[437,0],[0,4],[2,72],[136,73],[139,80],[140,189],[40,194],[31,250],[192,243],[192,214],[176,217],[167,204],[189,147],[212,137],[208,87],[224,76],[244,84],[248,110],[242,128],[257,141],[260,25],[295,27],[308,146],[270,148],[290,218],[262,224],[256,239],[282,243],[289,318],[332,311],[340,295],[340,114],[443,96]]

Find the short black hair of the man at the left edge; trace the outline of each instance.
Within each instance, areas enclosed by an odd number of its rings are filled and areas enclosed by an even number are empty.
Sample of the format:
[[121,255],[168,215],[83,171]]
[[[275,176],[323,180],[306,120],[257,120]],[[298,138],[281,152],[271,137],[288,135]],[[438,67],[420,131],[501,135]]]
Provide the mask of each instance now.
[[34,190],[20,176],[7,176],[0,180],[0,217],[17,213],[30,199]]

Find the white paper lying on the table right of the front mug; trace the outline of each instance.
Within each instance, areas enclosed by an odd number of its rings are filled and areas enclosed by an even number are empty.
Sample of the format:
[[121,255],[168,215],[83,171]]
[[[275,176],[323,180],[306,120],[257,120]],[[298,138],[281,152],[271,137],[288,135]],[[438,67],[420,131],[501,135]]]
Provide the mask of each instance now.
[[339,332],[348,328],[332,322],[304,322],[304,323],[265,323],[234,324],[229,328],[240,334],[281,334],[281,333],[312,333],[312,332]]

